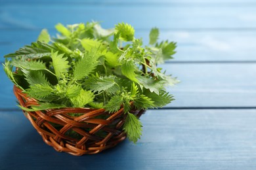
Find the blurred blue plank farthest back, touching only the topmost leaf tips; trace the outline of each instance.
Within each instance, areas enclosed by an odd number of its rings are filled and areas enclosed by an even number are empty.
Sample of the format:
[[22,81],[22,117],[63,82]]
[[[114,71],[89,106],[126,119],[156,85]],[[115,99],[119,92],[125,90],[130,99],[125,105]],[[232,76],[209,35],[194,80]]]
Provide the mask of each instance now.
[[[255,28],[256,6],[179,7],[144,5],[11,4],[1,5],[1,29],[53,27],[58,22],[73,24],[90,20],[104,21],[105,27],[128,22],[136,29],[158,26],[163,29]],[[50,19],[51,18],[51,19]]]

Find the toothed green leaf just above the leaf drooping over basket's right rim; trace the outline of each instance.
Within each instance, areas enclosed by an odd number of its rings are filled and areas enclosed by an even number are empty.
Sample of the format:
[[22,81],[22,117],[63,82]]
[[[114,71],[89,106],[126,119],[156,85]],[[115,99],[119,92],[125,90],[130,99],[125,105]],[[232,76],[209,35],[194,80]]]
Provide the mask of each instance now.
[[139,95],[134,99],[134,105],[137,109],[148,109],[148,108],[154,108],[154,101],[147,97],[146,95]]

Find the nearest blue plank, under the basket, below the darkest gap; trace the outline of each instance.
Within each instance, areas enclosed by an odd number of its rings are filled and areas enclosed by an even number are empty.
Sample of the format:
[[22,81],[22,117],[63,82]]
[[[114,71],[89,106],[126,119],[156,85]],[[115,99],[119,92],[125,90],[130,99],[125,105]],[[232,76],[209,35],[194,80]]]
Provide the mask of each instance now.
[[[22,112],[0,112],[1,169],[255,169],[256,110],[148,110],[137,144],[81,157],[43,143]],[[157,120],[157,121],[156,121]]]

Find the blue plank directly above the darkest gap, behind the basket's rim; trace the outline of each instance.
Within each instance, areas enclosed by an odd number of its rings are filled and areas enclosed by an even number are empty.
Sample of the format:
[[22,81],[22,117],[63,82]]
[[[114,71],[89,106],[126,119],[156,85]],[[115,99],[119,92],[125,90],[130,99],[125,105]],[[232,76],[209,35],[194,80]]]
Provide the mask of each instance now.
[[[169,63],[160,65],[178,76],[180,84],[168,91],[175,101],[167,107],[256,107],[256,63]],[[0,71],[0,108],[17,108],[12,83]]]

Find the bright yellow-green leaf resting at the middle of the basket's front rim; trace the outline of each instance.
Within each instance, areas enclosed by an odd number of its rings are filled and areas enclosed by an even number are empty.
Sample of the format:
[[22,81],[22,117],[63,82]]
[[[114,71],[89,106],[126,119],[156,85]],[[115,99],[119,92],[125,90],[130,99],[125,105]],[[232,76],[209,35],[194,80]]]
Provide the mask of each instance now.
[[84,107],[88,103],[91,103],[95,95],[91,91],[81,89],[79,95],[71,99],[74,107]]

